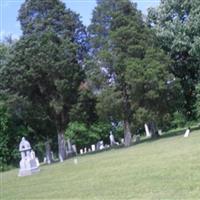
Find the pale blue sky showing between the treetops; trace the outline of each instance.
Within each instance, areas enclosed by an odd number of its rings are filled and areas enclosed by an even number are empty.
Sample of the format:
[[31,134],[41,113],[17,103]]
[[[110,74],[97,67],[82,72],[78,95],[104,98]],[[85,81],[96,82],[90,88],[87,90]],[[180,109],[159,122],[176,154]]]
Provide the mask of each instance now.
[[[62,0],[66,7],[77,12],[81,16],[83,24],[88,26],[92,17],[92,10],[96,6],[96,0]],[[109,0],[108,0],[109,1]],[[147,8],[156,7],[160,0],[132,0],[138,5],[138,9],[147,14]],[[17,21],[18,10],[24,0],[0,0],[0,40],[6,35],[19,38],[21,35],[20,24]]]

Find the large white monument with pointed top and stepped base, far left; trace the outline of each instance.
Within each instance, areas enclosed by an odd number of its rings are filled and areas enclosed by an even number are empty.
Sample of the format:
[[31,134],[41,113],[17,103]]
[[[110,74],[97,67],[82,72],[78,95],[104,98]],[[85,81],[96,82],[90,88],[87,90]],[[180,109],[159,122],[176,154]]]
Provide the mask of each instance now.
[[21,161],[18,176],[28,176],[40,171],[38,158],[35,157],[35,152],[24,137],[19,144],[19,151],[21,153]]

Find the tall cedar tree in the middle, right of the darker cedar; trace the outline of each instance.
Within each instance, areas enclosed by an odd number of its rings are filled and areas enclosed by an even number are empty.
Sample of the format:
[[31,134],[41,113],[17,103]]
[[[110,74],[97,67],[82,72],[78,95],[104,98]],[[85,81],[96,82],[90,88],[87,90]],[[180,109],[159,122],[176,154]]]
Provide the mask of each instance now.
[[[136,5],[128,0],[97,1],[89,34],[93,58],[88,63],[88,76],[96,84],[97,109],[111,120],[124,122],[124,139],[128,146],[130,126],[138,109],[143,108],[147,113],[155,111],[157,116],[157,113],[167,112],[167,106],[160,110],[155,107],[158,108],[158,100],[162,104],[161,99],[168,99],[159,93],[166,92],[167,81],[173,79],[168,71],[170,60],[156,49],[153,33],[143,22]],[[162,75],[156,78],[160,73]],[[140,89],[135,89],[137,83],[133,80],[138,81]],[[151,117],[147,120],[152,121]],[[155,126],[152,129],[155,132]]]

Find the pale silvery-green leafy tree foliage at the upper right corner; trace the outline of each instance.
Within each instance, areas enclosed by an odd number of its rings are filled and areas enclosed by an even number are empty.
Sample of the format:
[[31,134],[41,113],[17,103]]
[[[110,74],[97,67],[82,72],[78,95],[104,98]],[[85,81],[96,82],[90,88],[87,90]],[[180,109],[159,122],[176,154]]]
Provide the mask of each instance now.
[[149,24],[160,46],[174,61],[171,71],[181,79],[188,119],[195,117],[195,84],[199,77],[199,9],[198,0],[166,0],[157,9],[149,10]]

